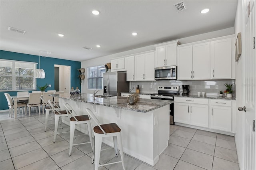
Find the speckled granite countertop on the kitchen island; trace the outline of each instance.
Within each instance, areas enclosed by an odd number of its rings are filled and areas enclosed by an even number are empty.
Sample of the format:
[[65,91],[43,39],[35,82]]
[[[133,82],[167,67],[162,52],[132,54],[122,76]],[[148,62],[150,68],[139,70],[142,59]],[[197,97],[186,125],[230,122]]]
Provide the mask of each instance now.
[[80,94],[78,96],[70,97],[70,94],[64,93],[60,95],[52,95],[62,99],[68,99],[73,101],[80,101],[84,103],[91,103],[94,105],[102,105],[107,107],[113,107],[118,109],[125,109],[130,111],[146,113],[160,107],[169,105],[173,101],[155,100],[155,99],[140,99],[140,101],[134,105],[128,105],[127,97],[112,96],[112,97],[93,97],[92,94]]

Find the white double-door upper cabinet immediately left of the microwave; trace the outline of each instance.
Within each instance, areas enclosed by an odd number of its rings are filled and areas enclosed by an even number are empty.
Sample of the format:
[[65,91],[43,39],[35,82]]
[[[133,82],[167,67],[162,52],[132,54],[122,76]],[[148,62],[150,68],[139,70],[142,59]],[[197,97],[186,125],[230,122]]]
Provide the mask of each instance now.
[[135,55],[135,81],[154,81],[155,53]]

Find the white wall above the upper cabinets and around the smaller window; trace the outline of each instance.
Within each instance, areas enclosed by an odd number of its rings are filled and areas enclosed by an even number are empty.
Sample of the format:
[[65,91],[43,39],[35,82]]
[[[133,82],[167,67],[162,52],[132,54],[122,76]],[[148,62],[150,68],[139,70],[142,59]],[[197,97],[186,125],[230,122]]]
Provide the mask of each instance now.
[[[199,34],[199,35],[196,35],[196,36],[181,38],[181,39],[178,39],[178,40],[180,41],[181,44],[185,44],[185,43],[207,40],[207,39],[216,38],[216,37],[228,36],[228,35],[231,35],[231,34],[234,34],[234,27],[226,28],[226,29],[223,29],[223,30],[217,30],[217,31],[214,31],[214,32]],[[170,41],[175,41],[175,40],[170,40]],[[81,66],[82,66],[82,68],[86,69],[84,75],[87,77],[87,68],[88,67],[104,65],[106,63],[109,63],[110,59],[112,59],[112,58],[122,57],[122,56],[125,56],[125,55],[132,55],[132,54],[135,54],[135,53],[150,51],[150,50],[153,50],[153,49],[155,49],[154,45],[149,45],[149,46],[146,46],[146,47],[132,49],[132,50],[129,50],[129,51],[123,51],[123,52],[120,52],[120,53],[107,55],[107,56],[104,56],[104,57],[89,59],[89,60],[86,60],[86,61],[82,61]],[[81,93],[92,93],[92,92],[93,92],[93,90],[87,89],[87,79],[85,78],[82,81],[82,84],[81,84]],[[102,94],[102,91],[100,91],[99,94]]]

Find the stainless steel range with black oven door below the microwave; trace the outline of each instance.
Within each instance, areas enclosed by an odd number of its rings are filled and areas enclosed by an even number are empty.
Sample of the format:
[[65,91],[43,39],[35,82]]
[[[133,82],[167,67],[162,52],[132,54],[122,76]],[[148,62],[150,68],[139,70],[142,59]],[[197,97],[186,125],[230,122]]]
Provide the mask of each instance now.
[[[174,95],[180,93],[180,86],[158,86],[158,94],[152,94],[151,99],[174,101]],[[174,104],[170,104],[170,125],[174,125]]]

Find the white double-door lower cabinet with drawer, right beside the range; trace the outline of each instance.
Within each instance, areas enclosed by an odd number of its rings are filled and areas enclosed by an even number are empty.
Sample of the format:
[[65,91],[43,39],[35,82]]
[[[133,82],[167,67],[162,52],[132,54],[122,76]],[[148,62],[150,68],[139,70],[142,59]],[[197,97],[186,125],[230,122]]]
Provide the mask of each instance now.
[[208,128],[208,99],[174,97],[174,122]]

